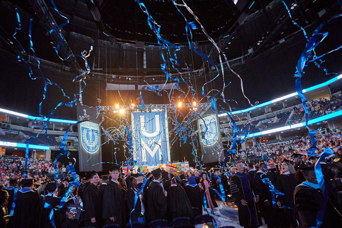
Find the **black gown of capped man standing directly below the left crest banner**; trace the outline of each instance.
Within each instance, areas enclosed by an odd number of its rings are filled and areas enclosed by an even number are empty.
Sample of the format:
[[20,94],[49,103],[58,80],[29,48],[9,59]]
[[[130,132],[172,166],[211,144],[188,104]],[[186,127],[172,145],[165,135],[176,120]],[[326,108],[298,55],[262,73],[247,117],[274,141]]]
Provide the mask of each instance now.
[[101,221],[101,194],[97,186],[90,183],[85,186],[83,191],[83,211],[81,221],[87,221],[91,218],[96,219],[96,223]]

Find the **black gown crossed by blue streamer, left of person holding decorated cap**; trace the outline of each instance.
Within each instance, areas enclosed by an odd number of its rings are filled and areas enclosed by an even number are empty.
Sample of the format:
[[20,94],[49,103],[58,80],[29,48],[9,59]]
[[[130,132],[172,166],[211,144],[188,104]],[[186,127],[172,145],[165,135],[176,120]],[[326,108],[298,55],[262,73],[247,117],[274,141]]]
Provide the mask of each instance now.
[[[37,228],[53,228],[50,220],[50,213],[51,208],[44,208],[45,203],[49,203],[52,208],[59,206],[60,198],[58,197],[52,197],[52,196],[45,196],[44,198],[41,198],[39,200],[38,205],[38,220],[37,220]],[[54,222],[55,225],[58,227],[60,224],[60,217],[59,217],[59,211],[54,212]]]

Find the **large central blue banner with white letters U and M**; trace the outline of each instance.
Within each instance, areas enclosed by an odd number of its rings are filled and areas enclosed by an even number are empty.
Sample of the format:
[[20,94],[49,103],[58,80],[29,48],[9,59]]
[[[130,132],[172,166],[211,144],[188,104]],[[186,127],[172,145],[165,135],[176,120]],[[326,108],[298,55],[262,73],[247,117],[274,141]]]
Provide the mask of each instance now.
[[170,161],[167,112],[132,113],[133,156],[139,165],[157,165]]

